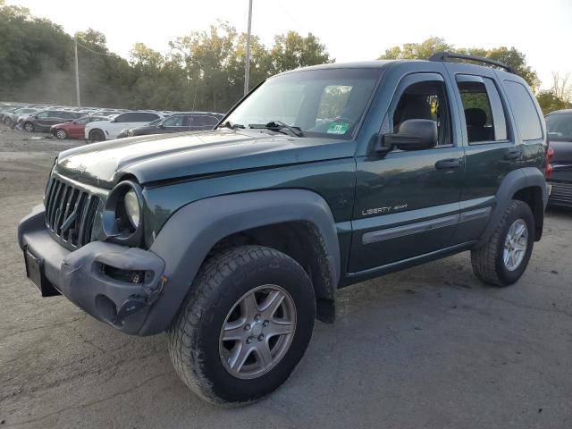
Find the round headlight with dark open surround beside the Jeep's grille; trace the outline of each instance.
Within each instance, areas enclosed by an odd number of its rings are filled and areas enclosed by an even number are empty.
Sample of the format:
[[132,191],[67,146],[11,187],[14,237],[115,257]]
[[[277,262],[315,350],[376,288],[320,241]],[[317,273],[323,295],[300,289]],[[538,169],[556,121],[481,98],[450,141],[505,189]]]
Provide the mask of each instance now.
[[107,240],[138,247],[143,240],[143,195],[139,183],[121,181],[105,199],[102,226]]

